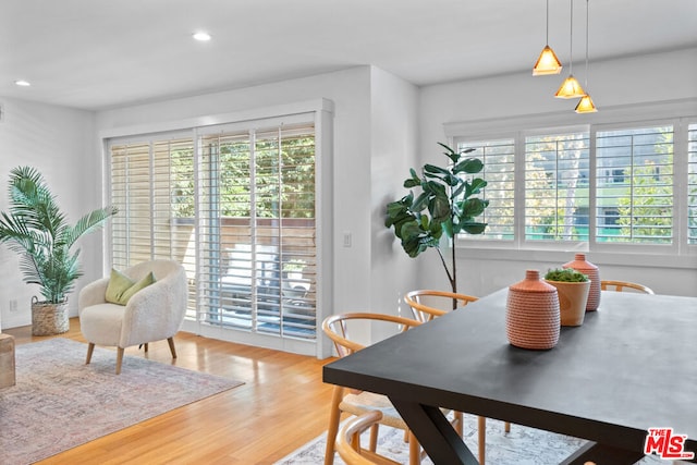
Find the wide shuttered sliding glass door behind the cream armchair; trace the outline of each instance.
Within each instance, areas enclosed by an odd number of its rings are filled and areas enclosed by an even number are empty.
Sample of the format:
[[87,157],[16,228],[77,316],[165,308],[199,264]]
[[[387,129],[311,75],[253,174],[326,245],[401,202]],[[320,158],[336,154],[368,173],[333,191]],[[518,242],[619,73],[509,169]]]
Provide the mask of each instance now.
[[314,123],[239,126],[110,140],[113,267],[174,258],[187,319],[315,340]]

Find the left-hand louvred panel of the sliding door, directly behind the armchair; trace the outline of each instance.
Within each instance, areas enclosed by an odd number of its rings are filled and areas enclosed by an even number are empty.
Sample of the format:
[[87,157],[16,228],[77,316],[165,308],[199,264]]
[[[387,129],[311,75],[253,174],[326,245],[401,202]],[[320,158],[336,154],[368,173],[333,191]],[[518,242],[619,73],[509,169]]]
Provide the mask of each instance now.
[[[194,143],[164,138],[115,143],[111,151],[112,266],[175,259],[195,269]],[[157,277],[156,277],[157,278]],[[187,315],[194,316],[194,290]]]

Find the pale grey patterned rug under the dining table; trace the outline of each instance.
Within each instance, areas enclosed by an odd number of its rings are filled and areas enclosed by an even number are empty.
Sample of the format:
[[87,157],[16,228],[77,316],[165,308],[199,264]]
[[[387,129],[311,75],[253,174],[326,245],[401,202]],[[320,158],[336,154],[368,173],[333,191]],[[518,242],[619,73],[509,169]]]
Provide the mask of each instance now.
[[[503,421],[487,420],[486,463],[492,465],[552,465],[559,464],[571,453],[580,448],[585,441],[578,438],[557,435],[519,425],[511,425],[511,432],[503,430]],[[365,435],[368,435],[366,432]],[[463,437],[465,444],[477,454],[477,417],[465,415]],[[274,465],[315,465],[321,464],[325,457],[326,436],[321,435],[294,451]],[[368,443],[367,436],[362,439]],[[404,443],[401,430],[381,427],[378,436],[378,452],[399,463],[408,464],[408,446]],[[657,457],[645,457],[639,464],[665,463]],[[421,461],[424,465],[432,465],[430,458]],[[334,465],[345,465],[335,454]]]

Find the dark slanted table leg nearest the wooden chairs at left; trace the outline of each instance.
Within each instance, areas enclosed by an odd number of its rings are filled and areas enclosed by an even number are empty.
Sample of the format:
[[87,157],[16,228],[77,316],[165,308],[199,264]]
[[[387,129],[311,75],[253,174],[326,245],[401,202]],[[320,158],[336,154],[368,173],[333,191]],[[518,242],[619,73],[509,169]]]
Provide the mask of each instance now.
[[390,401],[436,465],[479,463],[440,408],[392,397]]

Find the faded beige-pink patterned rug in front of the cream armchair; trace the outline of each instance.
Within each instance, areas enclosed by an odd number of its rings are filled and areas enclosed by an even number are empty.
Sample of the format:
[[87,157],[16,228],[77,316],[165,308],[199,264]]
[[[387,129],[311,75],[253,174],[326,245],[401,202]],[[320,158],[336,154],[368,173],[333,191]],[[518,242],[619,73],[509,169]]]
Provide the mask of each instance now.
[[16,346],[16,386],[0,390],[0,464],[54,455],[242,382],[49,339]]

